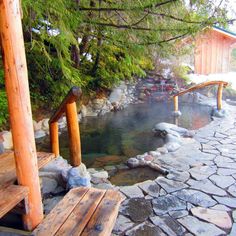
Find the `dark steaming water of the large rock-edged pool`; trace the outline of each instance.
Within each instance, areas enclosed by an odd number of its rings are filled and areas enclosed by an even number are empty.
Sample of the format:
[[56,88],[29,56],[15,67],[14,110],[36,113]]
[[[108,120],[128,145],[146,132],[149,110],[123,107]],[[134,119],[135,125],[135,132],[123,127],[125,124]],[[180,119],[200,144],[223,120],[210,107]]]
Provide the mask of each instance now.
[[[128,157],[155,150],[163,145],[162,139],[154,137],[151,131],[159,122],[176,123],[188,129],[198,129],[210,122],[208,106],[179,104],[179,108],[182,116],[178,120],[171,115],[172,102],[130,105],[122,111],[83,119],[80,124],[83,162],[88,167],[116,165]],[[41,143],[38,149],[49,149],[48,143]],[[67,132],[63,132],[60,154],[64,158],[69,157],[68,147]]]

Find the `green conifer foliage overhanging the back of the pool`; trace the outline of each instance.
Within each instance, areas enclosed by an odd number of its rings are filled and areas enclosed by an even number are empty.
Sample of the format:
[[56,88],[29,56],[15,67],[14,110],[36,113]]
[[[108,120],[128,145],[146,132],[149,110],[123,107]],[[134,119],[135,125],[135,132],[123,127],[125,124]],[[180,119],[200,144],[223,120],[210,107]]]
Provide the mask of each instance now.
[[32,100],[56,105],[72,85],[87,91],[145,76],[154,53],[227,23],[214,0],[22,0]]

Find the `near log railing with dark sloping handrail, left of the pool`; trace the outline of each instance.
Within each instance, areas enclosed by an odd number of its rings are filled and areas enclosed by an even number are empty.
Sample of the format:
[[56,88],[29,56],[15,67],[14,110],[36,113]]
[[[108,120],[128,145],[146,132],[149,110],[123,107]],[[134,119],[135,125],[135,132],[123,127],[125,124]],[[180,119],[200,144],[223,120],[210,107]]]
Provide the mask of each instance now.
[[70,163],[72,166],[79,166],[81,163],[81,144],[80,131],[76,101],[81,97],[82,91],[79,87],[72,87],[68,92],[61,105],[49,120],[50,140],[52,152],[55,156],[60,155],[58,120],[66,113],[67,129],[70,141]]

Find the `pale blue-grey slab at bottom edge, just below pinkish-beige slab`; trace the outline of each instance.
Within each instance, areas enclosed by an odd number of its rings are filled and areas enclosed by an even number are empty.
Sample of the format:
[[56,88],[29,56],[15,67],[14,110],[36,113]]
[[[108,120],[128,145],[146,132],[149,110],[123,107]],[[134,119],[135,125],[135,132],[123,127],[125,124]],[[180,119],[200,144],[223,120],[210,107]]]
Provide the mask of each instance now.
[[193,216],[186,216],[178,221],[191,233],[197,236],[221,236],[226,233],[211,223],[205,223]]

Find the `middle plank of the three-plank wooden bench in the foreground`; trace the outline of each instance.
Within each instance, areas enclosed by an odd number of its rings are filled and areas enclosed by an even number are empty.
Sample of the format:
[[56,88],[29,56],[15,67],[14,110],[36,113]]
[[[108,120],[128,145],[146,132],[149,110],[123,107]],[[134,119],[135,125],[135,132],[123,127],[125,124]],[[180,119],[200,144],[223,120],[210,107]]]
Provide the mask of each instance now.
[[105,194],[105,190],[91,188],[72,211],[66,222],[62,225],[57,236],[77,236],[82,233],[98,204]]

